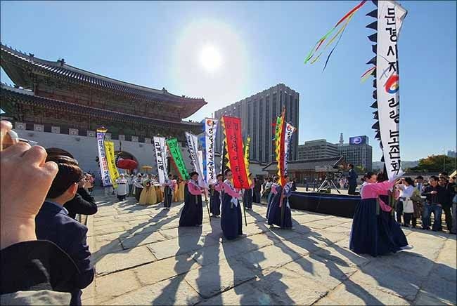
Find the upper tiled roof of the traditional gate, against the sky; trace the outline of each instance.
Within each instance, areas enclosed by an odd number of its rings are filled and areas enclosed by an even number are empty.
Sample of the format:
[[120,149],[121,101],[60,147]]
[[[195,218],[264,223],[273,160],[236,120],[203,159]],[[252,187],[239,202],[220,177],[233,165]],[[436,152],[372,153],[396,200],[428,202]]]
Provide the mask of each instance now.
[[[146,98],[150,100],[160,100],[165,102],[178,102],[186,104],[190,103],[191,105],[195,105],[195,107],[198,107],[194,110],[194,112],[196,112],[196,110],[198,110],[200,107],[206,104],[205,99],[203,98],[188,98],[179,95],[173,95],[172,93],[168,93],[165,89],[160,91],[145,86],[130,84],[124,81],[111,79],[107,76],[102,76],[99,74],[95,74],[93,72],[88,72],[77,67],[72,67],[70,65],[65,64],[63,60],[58,60],[56,62],[52,62],[49,60],[41,60],[40,58],[35,58],[32,54],[27,55],[13,48],[5,46],[4,44],[0,44],[0,47],[2,57],[3,55],[11,56],[16,60],[24,62],[27,65],[32,65],[35,69],[40,69],[41,71],[48,74],[52,74],[54,76],[67,77],[74,81],[83,82],[85,84],[90,84],[94,86],[101,86],[103,88],[108,88],[112,91],[120,91],[122,93],[138,95],[141,98]],[[2,62],[3,61],[4,58],[2,58]]]

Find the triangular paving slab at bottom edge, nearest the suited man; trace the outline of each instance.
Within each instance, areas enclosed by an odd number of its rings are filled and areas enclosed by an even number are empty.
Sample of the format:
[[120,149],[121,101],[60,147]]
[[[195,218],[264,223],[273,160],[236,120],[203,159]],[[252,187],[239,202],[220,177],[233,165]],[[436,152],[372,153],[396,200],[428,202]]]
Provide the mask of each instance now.
[[179,276],[144,286],[101,305],[194,305],[201,300],[200,295],[184,281],[184,277]]

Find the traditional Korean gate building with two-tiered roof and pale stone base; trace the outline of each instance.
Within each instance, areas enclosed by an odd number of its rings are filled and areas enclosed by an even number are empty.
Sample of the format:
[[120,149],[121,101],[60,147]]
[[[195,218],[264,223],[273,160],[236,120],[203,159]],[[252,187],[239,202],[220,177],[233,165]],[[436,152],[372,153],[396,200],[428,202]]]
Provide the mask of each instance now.
[[21,138],[69,152],[85,171],[98,172],[100,126],[108,128],[106,138],[115,142],[115,149],[122,145],[124,157],[133,157],[139,167],[155,164],[153,136],[185,142],[185,131],[202,131],[200,123],[183,119],[206,104],[203,98],[129,84],[72,67],[63,59],[42,60],[0,46],[1,67],[14,83],[1,85],[3,116]]

